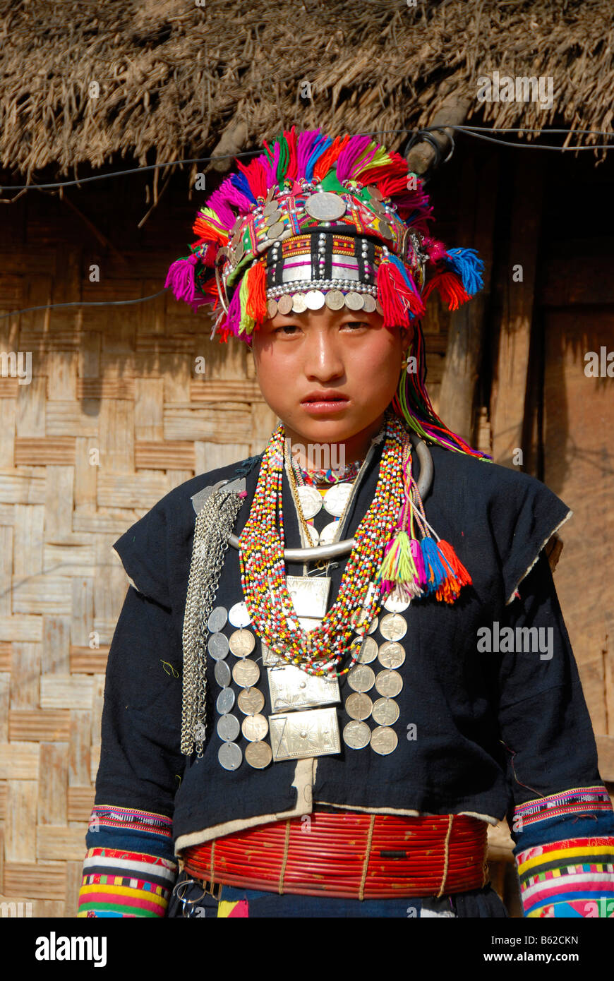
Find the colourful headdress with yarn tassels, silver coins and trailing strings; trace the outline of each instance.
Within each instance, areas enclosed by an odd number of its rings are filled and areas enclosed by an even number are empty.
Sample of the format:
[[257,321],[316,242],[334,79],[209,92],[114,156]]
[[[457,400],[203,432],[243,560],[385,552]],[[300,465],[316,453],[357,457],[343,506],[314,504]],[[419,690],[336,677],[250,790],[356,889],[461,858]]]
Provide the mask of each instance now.
[[[370,136],[284,130],[266,152],[211,194],[192,231],[190,254],[166,286],[194,311],[219,310],[212,337],[239,337],[278,311],[377,311],[384,327],[413,328],[394,411],[423,439],[486,456],[435,415],[425,387],[420,318],[436,289],[455,310],[482,288],[475,249],[446,249],[429,233],[432,208],[407,161]],[[221,309],[219,309],[221,308]]]

